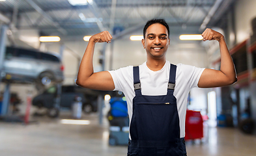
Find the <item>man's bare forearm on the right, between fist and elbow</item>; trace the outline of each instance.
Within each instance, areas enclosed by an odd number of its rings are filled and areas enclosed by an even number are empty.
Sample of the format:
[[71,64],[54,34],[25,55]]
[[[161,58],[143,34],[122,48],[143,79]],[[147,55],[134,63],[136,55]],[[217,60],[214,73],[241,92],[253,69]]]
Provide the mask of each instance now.
[[230,83],[235,83],[236,81],[236,71],[233,60],[229,53],[229,49],[227,49],[227,44],[225,43],[225,39],[221,38],[219,40],[220,44],[220,55],[221,55],[221,65],[220,71],[225,74],[227,79],[231,81]]

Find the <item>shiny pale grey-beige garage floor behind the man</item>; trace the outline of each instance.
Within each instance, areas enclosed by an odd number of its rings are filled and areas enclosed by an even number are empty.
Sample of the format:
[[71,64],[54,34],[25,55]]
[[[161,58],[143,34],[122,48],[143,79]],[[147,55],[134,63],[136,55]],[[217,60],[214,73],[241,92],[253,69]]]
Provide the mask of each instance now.
[[[33,117],[38,123],[0,122],[0,155],[126,155],[126,146],[108,145],[108,122],[98,124],[98,115],[82,116],[89,125],[66,125],[61,119],[70,118],[70,112],[61,112],[57,119],[47,116]],[[205,138],[186,142],[189,156],[254,156],[256,136],[244,135],[233,128],[208,128]]]

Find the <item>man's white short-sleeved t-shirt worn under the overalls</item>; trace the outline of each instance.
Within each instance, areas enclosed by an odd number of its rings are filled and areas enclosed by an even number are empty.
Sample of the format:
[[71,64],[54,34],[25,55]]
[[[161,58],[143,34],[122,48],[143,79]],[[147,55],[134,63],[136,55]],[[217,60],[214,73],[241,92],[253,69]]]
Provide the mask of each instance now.
[[[205,68],[196,68],[195,66],[177,64],[175,90],[173,95],[177,99],[181,138],[185,136],[185,116],[188,93],[193,87],[198,87],[197,84],[203,70],[205,70]],[[130,122],[132,120],[132,99],[134,99],[135,96],[133,71],[133,66],[127,66],[118,70],[109,71],[115,84],[115,90],[123,92],[124,96],[126,97]],[[166,61],[164,67],[156,72],[147,67],[147,62],[139,65],[141,94],[147,96],[166,95],[167,85],[169,82],[169,72],[169,61]]]

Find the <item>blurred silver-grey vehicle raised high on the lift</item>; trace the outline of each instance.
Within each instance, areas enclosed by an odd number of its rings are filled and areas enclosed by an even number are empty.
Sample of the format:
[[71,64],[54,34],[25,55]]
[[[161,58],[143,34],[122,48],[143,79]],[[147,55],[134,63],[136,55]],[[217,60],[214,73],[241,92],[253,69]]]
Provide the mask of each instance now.
[[1,76],[4,81],[36,81],[39,85],[47,86],[63,81],[63,70],[58,55],[35,49],[7,47]]

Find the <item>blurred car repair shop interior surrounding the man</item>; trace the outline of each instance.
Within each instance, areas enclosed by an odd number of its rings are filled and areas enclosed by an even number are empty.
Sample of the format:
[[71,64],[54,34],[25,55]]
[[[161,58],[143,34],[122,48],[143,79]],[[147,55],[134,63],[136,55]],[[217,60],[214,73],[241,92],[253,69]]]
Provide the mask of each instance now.
[[[167,60],[220,70],[217,41],[183,40],[206,28],[221,32],[238,81],[193,88],[186,150],[193,156],[256,153],[255,0],[0,0],[0,155],[127,155],[129,120],[122,92],[76,85],[93,34],[94,72],[146,61],[143,27],[163,18]],[[142,37],[141,37],[142,36]]]

